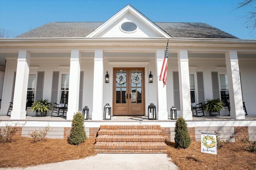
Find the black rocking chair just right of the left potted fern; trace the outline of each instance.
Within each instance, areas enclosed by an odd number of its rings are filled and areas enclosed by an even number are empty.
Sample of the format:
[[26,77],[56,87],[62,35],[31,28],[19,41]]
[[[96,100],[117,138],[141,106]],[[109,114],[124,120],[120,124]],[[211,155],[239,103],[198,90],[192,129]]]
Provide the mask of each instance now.
[[[67,114],[68,111],[68,94],[62,94],[60,98],[60,104],[53,103],[52,105],[52,114],[53,117],[66,117],[64,114]],[[57,115],[53,115],[57,114]],[[62,114],[62,115],[60,115]]]

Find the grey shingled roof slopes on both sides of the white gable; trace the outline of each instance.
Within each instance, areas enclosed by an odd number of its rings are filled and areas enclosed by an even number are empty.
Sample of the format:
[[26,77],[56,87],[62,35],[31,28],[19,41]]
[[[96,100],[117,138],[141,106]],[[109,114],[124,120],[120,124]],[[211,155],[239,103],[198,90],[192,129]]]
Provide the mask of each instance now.
[[[16,38],[86,37],[104,22],[50,22]],[[155,22],[172,38],[232,38],[231,34],[204,23]]]

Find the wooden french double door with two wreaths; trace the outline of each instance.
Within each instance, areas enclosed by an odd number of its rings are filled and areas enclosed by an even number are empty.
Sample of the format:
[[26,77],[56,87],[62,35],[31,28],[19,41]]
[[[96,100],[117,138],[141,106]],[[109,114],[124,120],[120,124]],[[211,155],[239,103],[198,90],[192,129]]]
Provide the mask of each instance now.
[[145,115],[144,68],[114,68],[113,115]]

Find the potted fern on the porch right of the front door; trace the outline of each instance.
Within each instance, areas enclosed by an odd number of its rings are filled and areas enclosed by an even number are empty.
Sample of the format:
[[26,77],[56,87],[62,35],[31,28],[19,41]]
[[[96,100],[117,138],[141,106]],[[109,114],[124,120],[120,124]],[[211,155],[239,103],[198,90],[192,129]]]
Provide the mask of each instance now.
[[225,103],[220,99],[206,99],[203,105],[204,111],[209,112],[210,116],[220,115],[220,111],[224,110]]

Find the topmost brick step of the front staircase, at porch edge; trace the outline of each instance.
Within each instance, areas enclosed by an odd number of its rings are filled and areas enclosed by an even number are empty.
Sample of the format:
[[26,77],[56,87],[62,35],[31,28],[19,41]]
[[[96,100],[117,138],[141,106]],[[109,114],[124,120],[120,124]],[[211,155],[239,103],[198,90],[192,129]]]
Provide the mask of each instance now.
[[161,129],[160,125],[100,125],[100,129]]

